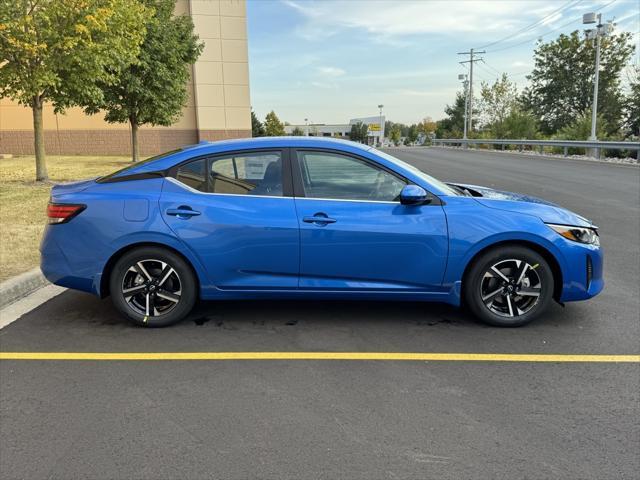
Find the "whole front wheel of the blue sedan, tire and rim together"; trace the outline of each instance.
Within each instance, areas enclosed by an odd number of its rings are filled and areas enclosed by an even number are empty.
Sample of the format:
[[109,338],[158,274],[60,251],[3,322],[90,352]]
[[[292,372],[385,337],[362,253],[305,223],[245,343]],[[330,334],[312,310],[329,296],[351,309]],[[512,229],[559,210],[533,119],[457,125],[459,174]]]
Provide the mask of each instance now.
[[462,289],[465,305],[484,323],[520,327],[551,303],[553,272],[547,261],[529,248],[498,247],[473,262]]

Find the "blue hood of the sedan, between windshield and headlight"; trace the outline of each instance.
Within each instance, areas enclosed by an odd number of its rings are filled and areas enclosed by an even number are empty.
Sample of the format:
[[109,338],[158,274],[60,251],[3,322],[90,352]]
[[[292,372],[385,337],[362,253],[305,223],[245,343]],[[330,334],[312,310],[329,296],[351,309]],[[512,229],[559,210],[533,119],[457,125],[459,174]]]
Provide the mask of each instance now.
[[538,197],[494,190],[493,188],[479,185],[467,185],[464,183],[450,183],[450,185],[466,190],[485,207],[534,215],[545,223],[595,228],[593,222],[583,216]]

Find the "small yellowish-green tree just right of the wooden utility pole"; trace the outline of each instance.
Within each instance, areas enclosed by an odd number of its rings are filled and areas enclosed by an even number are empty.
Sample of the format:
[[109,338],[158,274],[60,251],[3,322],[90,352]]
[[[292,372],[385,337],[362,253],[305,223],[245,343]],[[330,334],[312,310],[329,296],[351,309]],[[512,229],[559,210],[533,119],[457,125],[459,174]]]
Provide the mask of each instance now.
[[482,82],[478,105],[479,124],[489,130],[492,138],[509,138],[505,120],[517,104],[518,89],[506,73],[503,73],[492,85]]

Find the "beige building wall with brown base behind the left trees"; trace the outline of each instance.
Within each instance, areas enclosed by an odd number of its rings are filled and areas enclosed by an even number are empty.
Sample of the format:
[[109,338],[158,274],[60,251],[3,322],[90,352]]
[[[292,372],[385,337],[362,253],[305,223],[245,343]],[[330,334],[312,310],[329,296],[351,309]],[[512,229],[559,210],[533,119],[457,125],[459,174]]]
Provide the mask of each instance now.
[[[155,155],[200,140],[251,136],[246,0],[177,0],[176,14],[191,15],[205,44],[192,67],[189,100],[170,127],[141,127],[141,155]],[[44,108],[45,148],[49,154],[127,155],[128,124],[72,108],[64,115]],[[0,153],[33,153],[31,110],[0,99]]]

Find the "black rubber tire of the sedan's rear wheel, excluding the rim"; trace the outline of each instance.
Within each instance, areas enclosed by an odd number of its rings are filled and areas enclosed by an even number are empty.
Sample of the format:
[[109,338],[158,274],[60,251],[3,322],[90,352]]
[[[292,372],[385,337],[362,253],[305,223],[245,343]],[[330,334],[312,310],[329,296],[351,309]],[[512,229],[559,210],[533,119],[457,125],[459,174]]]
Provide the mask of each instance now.
[[[163,261],[177,272],[180,277],[182,294],[180,302],[166,315],[146,317],[133,310],[122,293],[122,280],[126,271],[141,260]],[[166,327],[184,319],[195,305],[197,283],[191,267],[179,255],[159,247],[141,247],[125,253],[115,264],[109,279],[111,298],[116,309],[136,325],[142,327]]]

